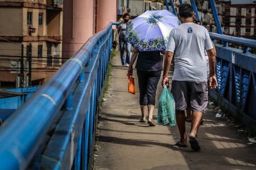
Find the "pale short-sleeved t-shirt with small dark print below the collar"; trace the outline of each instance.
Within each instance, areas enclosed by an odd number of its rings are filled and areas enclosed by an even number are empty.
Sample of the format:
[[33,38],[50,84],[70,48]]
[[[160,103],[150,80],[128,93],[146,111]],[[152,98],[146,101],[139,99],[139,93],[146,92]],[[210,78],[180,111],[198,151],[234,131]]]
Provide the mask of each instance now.
[[175,52],[173,80],[207,81],[205,50],[212,48],[209,32],[202,25],[189,22],[172,29],[166,51]]

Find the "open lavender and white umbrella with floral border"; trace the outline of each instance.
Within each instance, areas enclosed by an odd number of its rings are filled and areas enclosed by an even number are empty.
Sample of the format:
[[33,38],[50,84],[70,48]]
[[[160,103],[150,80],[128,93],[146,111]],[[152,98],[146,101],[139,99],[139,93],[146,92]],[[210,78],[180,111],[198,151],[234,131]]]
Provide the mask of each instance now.
[[125,39],[140,51],[165,50],[179,19],[168,10],[145,11],[127,23]]

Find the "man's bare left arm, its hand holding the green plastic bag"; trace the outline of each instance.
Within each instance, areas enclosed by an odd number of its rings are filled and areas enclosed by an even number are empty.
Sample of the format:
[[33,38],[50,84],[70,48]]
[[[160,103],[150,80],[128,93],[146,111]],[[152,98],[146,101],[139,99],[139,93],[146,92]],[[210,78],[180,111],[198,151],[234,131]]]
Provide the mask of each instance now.
[[168,71],[170,70],[171,62],[172,62],[173,52],[167,51],[165,53],[165,59],[164,59],[164,71],[163,71],[163,80],[162,85],[169,86],[168,81]]

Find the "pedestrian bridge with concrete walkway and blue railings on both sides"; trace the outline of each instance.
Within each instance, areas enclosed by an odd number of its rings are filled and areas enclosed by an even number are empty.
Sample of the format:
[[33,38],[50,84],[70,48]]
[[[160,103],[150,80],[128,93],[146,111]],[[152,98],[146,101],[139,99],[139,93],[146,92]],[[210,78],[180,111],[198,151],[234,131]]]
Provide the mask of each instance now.
[[[118,57],[108,72],[116,24],[109,23],[88,39],[1,125],[0,169],[255,169],[255,145],[248,144],[241,129],[236,132],[233,120],[215,118],[214,104],[208,106],[200,128],[198,153],[174,146],[179,136],[175,127],[137,122],[138,96],[126,92],[126,70],[118,67]],[[256,48],[256,41],[210,36],[217,51],[219,87],[209,95],[225,113],[255,132],[256,55],[248,49]],[[107,97],[102,98],[109,76]],[[101,101],[107,105],[101,108]]]

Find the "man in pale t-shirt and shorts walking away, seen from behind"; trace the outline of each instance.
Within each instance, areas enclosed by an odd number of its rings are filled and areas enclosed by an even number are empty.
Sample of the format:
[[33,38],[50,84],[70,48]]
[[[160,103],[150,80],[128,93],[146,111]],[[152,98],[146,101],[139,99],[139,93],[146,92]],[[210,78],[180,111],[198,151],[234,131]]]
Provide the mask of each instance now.
[[189,143],[192,150],[200,150],[196,136],[202,120],[202,112],[208,102],[207,64],[204,50],[207,50],[209,57],[210,89],[216,89],[218,86],[215,75],[215,53],[207,29],[193,23],[195,13],[190,4],[182,4],[179,7],[179,17],[182,24],[172,30],[166,46],[162,85],[169,85],[168,70],[175,51],[172,94],[175,99],[177,125],[180,132],[180,141],[176,145],[183,147],[188,145],[185,110],[189,106],[193,111]]

